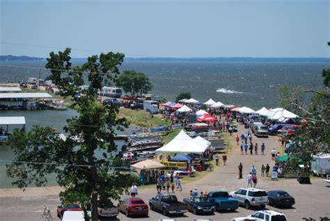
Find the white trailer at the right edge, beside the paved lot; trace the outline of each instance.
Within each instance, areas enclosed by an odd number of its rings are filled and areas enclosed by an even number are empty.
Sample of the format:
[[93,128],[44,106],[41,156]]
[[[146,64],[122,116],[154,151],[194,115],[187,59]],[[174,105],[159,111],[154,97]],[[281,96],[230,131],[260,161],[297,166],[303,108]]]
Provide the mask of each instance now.
[[314,155],[311,169],[313,174],[318,176],[327,176],[330,174],[330,154]]

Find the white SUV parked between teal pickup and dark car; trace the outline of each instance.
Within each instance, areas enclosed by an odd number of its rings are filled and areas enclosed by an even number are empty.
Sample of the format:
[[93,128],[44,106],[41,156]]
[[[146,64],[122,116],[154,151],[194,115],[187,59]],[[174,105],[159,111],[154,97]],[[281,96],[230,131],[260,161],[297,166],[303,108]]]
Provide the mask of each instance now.
[[268,204],[268,195],[265,190],[258,188],[240,188],[237,191],[229,193],[230,197],[238,200],[239,204],[243,204],[245,208],[251,206],[260,206],[265,208]]

